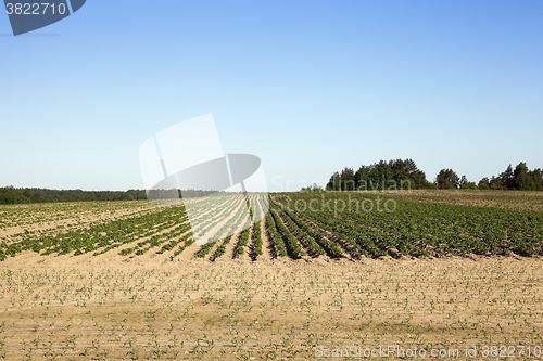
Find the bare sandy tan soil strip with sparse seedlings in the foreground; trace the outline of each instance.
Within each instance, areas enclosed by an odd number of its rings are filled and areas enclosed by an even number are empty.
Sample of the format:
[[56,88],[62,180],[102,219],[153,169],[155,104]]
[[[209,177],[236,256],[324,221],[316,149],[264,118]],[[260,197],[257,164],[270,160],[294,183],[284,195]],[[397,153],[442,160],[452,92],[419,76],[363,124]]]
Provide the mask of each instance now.
[[429,359],[476,347],[470,359],[488,360],[484,346],[543,347],[542,302],[541,258],[24,253],[0,263],[0,358],[318,359],[390,346],[425,348]]

